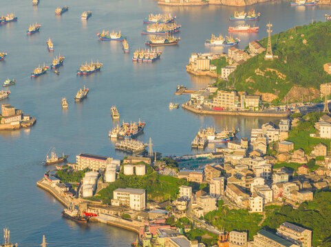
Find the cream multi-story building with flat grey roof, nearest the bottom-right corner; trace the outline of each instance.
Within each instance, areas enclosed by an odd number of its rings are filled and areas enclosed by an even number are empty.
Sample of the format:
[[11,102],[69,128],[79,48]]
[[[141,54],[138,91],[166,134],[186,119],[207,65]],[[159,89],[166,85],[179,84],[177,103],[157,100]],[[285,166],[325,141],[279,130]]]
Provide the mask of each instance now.
[[301,247],[312,246],[312,231],[290,222],[281,224],[277,228],[277,235]]

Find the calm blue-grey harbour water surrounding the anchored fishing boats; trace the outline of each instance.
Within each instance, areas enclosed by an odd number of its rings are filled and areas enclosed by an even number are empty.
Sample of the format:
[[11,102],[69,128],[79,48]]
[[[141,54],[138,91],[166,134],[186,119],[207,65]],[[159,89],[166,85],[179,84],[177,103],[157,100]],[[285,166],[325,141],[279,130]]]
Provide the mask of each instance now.
[[[55,16],[58,6],[68,5],[69,11]],[[250,10],[251,6],[246,8]],[[250,40],[266,36],[266,23],[273,23],[274,33],[294,25],[323,21],[330,7],[291,8],[289,3],[266,3],[254,6],[261,12],[255,25],[258,34],[238,34],[244,48]],[[49,193],[36,188],[45,171],[41,161],[50,146],[58,153],[87,152],[122,158],[115,152],[107,133],[113,126],[109,108],[116,104],[120,122],[146,121],[145,134],[140,139],[153,139],[153,148],[164,155],[189,154],[190,143],[199,128],[228,126],[239,128],[238,137],[247,137],[269,119],[252,117],[204,117],[185,110],[169,110],[169,102],[183,103],[189,95],[173,95],[178,84],[200,88],[212,82],[209,78],[191,77],[185,64],[191,52],[223,52],[222,48],[205,48],[204,40],[213,34],[227,34],[228,16],[235,8],[225,6],[165,7],[152,0],[41,0],[38,7],[32,1],[1,1],[0,14],[14,12],[19,21],[0,26],[0,51],[7,51],[0,61],[0,82],[17,79],[10,87],[12,94],[0,104],[12,104],[25,114],[37,118],[30,129],[0,132],[0,228],[8,226],[12,242],[20,246],[37,246],[45,234],[49,246],[129,246],[136,234],[104,224],[80,226],[61,217],[63,206]],[[239,9],[239,8],[237,8]],[[91,10],[92,17],[81,21],[81,13]],[[240,9],[241,10],[241,9]],[[243,9],[244,10],[244,9]],[[149,13],[171,12],[182,25],[180,44],[162,47],[161,59],[153,64],[131,62],[134,49],[145,47],[147,36],[142,19]],[[41,31],[26,36],[32,23],[40,23]],[[235,23],[231,23],[232,25]],[[118,30],[127,36],[131,53],[123,54],[119,42],[100,41],[96,32]],[[54,42],[54,52],[48,52],[47,38]],[[60,75],[47,71],[39,78],[30,78],[38,64],[49,65],[53,55],[65,56]],[[82,63],[103,62],[100,72],[76,76]],[[88,98],[74,103],[78,89],[86,85]],[[69,109],[62,110],[61,98],[67,97]],[[209,146],[207,150],[213,150]]]

